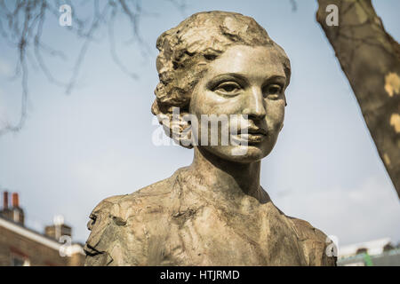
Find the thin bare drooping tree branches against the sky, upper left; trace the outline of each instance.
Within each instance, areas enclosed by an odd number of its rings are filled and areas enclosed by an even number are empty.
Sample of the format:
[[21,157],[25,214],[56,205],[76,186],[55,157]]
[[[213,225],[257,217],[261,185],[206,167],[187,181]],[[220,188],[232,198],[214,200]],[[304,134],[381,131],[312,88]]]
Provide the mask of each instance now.
[[[183,0],[167,1],[181,11],[185,7]],[[77,2],[74,1],[74,3],[76,4]],[[45,56],[57,57],[67,61],[66,54],[63,51],[53,49],[44,43],[42,39],[44,25],[48,21],[48,16],[52,16],[53,20],[58,22],[60,17],[59,7],[62,4],[68,4],[72,8],[71,16],[74,24],[71,27],[66,27],[66,30],[78,36],[82,42],[73,66],[72,75],[66,82],[55,78],[51,68],[44,61]],[[137,74],[129,71],[124,66],[117,55],[114,25],[118,15],[128,19],[132,28],[131,43],[138,43],[141,51],[146,53],[149,48],[140,35],[140,19],[144,15],[150,15],[150,13],[143,11],[140,0],[107,0],[106,2],[101,2],[101,4],[99,0],[93,0],[92,2],[82,0],[77,6],[83,8],[89,4],[92,4],[92,9],[85,8],[82,10],[91,10],[92,13],[83,17],[78,14],[76,5],[70,0],[0,0],[0,37],[4,39],[8,46],[18,51],[14,75],[10,80],[19,78],[22,88],[19,122],[15,124],[6,122],[5,126],[0,128],[0,136],[8,132],[19,131],[26,121],[29,67],[38,68],[49,83],[65,89],[67,94],[71,93],[76,87],[76,80],[84,64],[84,58],[90,44],[97,41],[96,33],[105,26],[108,26],[109,48],[116,66],[132,79],[139,78]]]

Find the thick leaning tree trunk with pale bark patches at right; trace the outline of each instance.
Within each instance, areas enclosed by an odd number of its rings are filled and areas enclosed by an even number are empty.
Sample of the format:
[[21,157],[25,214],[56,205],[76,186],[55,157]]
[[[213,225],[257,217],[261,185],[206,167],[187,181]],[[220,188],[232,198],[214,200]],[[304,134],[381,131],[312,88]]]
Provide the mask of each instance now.
[[[400,46],[371,0],[317,0],[316,20],[332,44],[388,175],[400,197]],[[329,4],[339,25],[328,26]]]

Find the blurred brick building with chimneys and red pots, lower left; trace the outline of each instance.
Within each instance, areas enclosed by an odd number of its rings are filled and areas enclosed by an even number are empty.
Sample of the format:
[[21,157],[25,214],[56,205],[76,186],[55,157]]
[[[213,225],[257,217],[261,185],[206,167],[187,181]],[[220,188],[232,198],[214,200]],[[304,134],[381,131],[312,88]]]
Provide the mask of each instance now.
[[0,210],[0,266],[83,265],[84,250],[81,244],[70,242],[71,227],[60,218],[55,221],[45,227],[44,233],[27,228],[18,193],[12,193],[9,207],[8,193],[4,192],[4,206]]

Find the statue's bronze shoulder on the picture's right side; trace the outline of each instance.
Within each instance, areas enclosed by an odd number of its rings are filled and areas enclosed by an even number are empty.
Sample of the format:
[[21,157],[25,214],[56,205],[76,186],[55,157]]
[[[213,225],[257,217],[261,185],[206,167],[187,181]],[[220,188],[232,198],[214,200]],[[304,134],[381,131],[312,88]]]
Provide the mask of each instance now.
[[324,232],[300,218],[286,217],[292,222],[293,229],[309,265],[336,265],[336,257],[330,256],[331,254],[328,252],[328,246],[332,246],[332,241]]

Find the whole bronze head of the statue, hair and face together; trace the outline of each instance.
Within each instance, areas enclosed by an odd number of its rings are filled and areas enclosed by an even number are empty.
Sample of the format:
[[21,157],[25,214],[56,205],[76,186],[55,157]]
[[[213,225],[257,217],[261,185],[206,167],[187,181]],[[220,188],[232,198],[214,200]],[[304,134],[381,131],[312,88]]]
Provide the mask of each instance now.
[[[170,137],[232,162],[259,161],[271,152],[284,125],[291,68],[264,28],[239,13],[200,12],[164,32],[156,47],[160,82],[152,113]],[[217,119],[217,133],[202,131],[212,114],[227,119]]]

